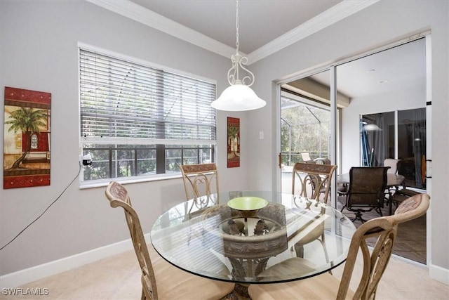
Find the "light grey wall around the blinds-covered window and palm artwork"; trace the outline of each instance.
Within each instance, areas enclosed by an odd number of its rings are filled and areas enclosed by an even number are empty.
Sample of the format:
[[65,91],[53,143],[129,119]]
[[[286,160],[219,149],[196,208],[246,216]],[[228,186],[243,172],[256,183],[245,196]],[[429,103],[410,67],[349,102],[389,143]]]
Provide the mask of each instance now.
[[[0,28],[2,89],[12,86],[52,93],[51,185],[0,190],[0,247],[41,214],[79,170],[79,41],[215,79],[219,91],[228,85],[229,59],[86,1],[0,1]],[[3,95],[1,99],[3,104]],[[0,115],[3,124],[4,114]],[[246,189],[242,171],[248,156],[246,143],[241,147],[243,166],[227,169],[227,116],[217,115],[220,188]],[[245,140],[244,119],[241,126]],[[162,211],[185,199],[181,178],[126,188],[146,233]],[[76,180],[39,221],[0,252],[0,275],[126,239],[123,211],[109,207],[104,188],[80,190]]]

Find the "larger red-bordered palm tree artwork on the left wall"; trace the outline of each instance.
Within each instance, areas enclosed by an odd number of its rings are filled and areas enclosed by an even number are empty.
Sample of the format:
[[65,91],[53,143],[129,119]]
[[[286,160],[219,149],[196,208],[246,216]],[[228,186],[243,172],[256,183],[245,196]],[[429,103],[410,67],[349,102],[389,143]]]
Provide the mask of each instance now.
[[50,185],[51,93],[5,87],[3,188]]

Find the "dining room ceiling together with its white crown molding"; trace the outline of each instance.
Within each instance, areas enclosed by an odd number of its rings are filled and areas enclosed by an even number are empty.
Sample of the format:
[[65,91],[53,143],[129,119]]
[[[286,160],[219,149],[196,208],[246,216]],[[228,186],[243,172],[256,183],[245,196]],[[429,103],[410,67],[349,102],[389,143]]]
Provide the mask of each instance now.
[[[234,0],[86,0],[206,50],[236,52]],[[239,51],[248,65],[379,0],[240,0]]]

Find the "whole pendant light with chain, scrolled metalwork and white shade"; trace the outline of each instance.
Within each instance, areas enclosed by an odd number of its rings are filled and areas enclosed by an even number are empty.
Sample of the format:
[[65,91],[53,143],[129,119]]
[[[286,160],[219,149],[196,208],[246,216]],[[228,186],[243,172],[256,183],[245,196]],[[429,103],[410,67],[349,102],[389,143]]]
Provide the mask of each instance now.
[[[215,110],[244,111],[264,107],[267,103],[257,97],[250,88],[254,83],[254,74],[246,67],[248,58],[239,54],[239,0],[236,0],[236,54],[231,56],[232,67],[227,72],[227,81],[230,86],[221,96],[210,104]],[[242,68],[248,75],[239,78],[239,69]],[[248,84],[245,84],[248,81]]]

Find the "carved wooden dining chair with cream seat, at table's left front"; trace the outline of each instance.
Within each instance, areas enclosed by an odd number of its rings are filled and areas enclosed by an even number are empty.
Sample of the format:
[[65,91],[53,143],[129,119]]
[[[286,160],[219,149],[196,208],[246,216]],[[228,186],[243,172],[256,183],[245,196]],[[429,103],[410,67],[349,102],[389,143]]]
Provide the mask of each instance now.
[[111,181],[105,190],[111,207],[122,207],[142,270],[141,299],[220,299],[231,293],[234,283],[209,280],[172,266],[152,249],[150,256],[138,214],[131,206],[128,191]]

